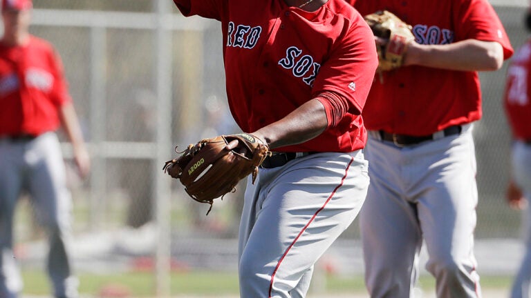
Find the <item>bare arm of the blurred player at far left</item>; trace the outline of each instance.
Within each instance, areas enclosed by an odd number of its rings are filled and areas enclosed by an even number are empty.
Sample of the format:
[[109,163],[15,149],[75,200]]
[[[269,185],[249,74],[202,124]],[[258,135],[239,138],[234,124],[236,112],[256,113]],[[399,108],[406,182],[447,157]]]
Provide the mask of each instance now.
[[91,159],[86,150],[83,135],[81,133],[80,123],[77,120],[72,103],[65,103],[59,108],[59,116],[61,118],[62,127],[66,132],[66,136],[72,143],[74,160],[82,177],[86,177],[91,168]]

